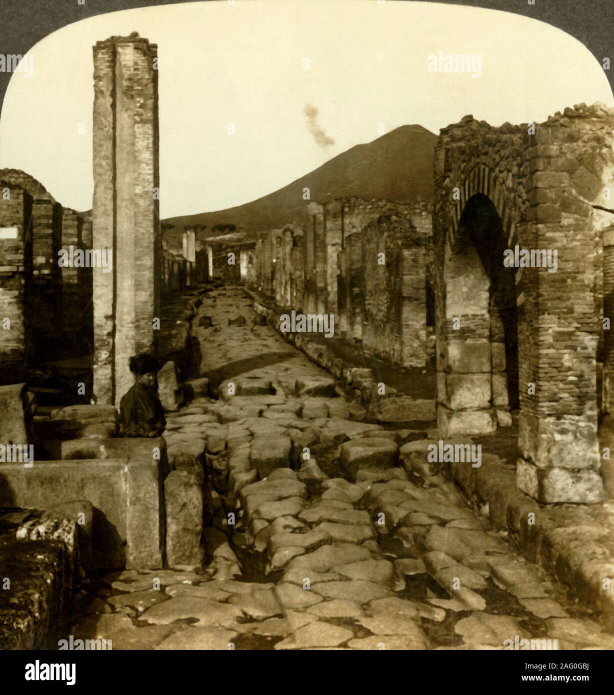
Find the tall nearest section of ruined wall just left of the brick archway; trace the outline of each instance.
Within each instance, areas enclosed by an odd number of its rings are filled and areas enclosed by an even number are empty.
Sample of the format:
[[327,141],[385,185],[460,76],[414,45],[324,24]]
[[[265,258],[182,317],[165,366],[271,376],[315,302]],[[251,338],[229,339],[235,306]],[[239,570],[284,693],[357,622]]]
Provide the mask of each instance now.
[[338,325],[373,354],[406,367],[425,366],[432,206],[357,198],[339,203]]

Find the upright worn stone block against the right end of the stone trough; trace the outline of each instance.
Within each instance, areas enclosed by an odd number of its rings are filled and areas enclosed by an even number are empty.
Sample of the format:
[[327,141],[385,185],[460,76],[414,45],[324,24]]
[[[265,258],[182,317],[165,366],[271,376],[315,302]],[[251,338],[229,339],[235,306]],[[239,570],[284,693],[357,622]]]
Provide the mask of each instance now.
[[202,566],[202,489],[187,471],[172,471],[164,481],[166,562],[172,569]]

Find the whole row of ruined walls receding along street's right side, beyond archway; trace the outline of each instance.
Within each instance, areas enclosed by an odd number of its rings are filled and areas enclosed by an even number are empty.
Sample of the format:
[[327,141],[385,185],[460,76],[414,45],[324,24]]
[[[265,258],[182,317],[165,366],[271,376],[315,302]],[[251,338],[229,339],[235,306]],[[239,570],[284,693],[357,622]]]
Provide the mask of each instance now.
[[433,277],[431,211],[423,202],[310,202],[302,227],[260,235],[257,286],[279,306],[332,314],[336,334],[362,341],[371,354],[423,367]]

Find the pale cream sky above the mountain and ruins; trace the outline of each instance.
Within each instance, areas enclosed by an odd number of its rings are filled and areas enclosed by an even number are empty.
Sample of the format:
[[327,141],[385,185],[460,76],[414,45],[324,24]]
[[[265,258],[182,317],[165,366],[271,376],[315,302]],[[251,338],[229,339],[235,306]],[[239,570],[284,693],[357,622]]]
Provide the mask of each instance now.
[[[468,113],[496,126],[581,101],[614,106],[583,44],[511,13],[393,0],[188,3],[84,19],[36,44],[33,76],[8,85],[0,167],[28,172],[64,206],[92,206],[92,46],[132,31],[158,44],[163,218],[272,193],[382,127],[438,133]],[[429,72],[440,50],[481,56],[481,76]],[[311,127],[308,104],[319,110]]]

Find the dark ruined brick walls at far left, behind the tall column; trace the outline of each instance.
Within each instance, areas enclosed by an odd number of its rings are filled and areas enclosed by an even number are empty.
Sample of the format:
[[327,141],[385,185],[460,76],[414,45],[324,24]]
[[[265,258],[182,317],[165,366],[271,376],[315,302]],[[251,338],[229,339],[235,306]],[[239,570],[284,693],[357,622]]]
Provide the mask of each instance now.
[[92,343],[91,268],[58,262],[60,249],[91,245],[91,221],[22,171],[1,170],[0,183],[0,228],[8,237],[0,238],[0,318],[10,320],[0,333],[0,379],[14,383],[49,357],[50,341],[70,341],[74,355]]

